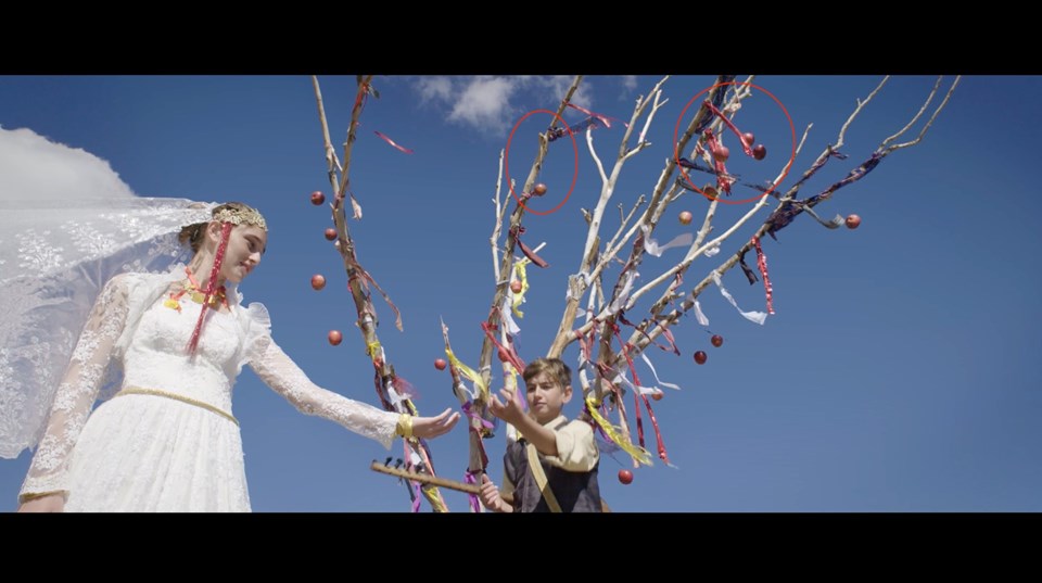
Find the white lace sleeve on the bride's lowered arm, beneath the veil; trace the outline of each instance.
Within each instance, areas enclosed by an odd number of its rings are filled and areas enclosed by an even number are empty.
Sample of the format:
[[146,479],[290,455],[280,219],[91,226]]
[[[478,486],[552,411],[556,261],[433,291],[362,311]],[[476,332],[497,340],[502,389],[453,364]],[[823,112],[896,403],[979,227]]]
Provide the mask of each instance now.
[[126,324],[128,296],[127,276],[116,276],[94,302],[54,394],[47,430],[33,456],[20,499],[56,492],[67,496],[68,454],[90,416],[113,345]]

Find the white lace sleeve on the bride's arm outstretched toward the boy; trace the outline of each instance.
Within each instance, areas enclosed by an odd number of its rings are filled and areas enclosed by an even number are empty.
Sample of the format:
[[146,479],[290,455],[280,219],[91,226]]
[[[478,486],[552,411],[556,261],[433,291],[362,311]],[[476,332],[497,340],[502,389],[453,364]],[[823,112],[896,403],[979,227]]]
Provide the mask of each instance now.
[[270,339],[249,364],[265,384],[285,397],[301,413],[325,417],[391,448],[398,414],[381,410],[317,386]]

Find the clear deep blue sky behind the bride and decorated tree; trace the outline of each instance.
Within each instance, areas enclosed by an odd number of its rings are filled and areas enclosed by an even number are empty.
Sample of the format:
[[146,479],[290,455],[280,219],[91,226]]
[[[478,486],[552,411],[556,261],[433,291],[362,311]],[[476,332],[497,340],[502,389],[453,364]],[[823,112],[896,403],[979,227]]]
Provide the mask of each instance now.
[[[652,142],[623,170],[605,231],[618,225],[615,201],[627,207],[648,193],[671,155],[684,105],[713,76],[681,76],[664,85],[663,106],[648,132]],[[739,79],[745,78],[739,76]],[[797,134],[813,123],[791,185],[876,76],[760,76],[754,83],[784,103]],[[658,80],[593,76],[579,102],[628,118],[634,100]],[[320,77],[334,143],[343,141],[354,76]],[[480,322],[492,301],[488,237],[499,151],[514,123],[535,109],[556,109],[568,77],[377,77],[352,163],[352,187],[364,207],[352,221],[363,265],[403,313],[393,327],[382,302],[380,340],[397,371],[419,391],[422,414],[458,407],[443,355],[439,318],[455,352],[471,366],[481,346]],[[899,76],[884,88],[847,136],[846,162],[833,161],[802,193],[816,193],[865,160],[919,107],[933,78]],[[946,85],[945,85],[946,86]],[[765,240],[774,307],[764,326],[744,319],[719,291],[700,303],[720,348],[694,317],[675,329],[679,357],[652,348],[659,376],[683,386],[653,403],[671,461],[641,467],[630,485],[620,461],[600,466],[605,498],[619,511],[1038,511],[1042,487],[1042,396],[1030,381],[1037,351],[1040,286],[1037,227],[1040,203],[1032,174],[1039,149],[1042,77],[970,76],[923,143],[894,153],[860,182],[817,211],[859,214],[857,230],[829,231],[800,217]],[[689,110],[689,114],[694,109]],[[583,115],[570,112],[566,121]],[[523,179],[535,134],[547,116],[533,115],[512,140],[512,174]],[[737,117],[768,147],[764,162],[733,155],[733,172],[762,181],[785,164],[788,124],[774,101],[754,94]],[[243,284],[246,301],[265,303],[276,340],[319,385],[376,403],[371,365],[353,326],[339,255],[322,238],[329,193],[321,132],[307,76],[39,76],[0,77],[0,127],[28,128],[107,161],[142,197],[243,200],[270,226],[264,263]],[[379,130],[414,154],[373,135]],[[621,129],[598,129],[606,164]],[[727,138],[732,151],[736,141]],[[546,242],[550,267],[529,270],[532,289],[519,320],[521,356],[538,356],[563,309],[566,279],[577,270],[585,225],[600,190],[580,139],[576,188],[559,212],[525,219],[524,240]],[[339,147],[338,147],[339,149]],[[555,142],[541,180],[549,206],[572,179],[573,153]],[[765,170],[764,168],[770,168]],[[46,167],[40,173],[53,172]],[[17,193],[0,193],[4,198]],[[748,197],[749,194],[746,194]],[[549,204],[552,202],[552,204]],[[671,205],[659,241],[694,231],[707,201]],[[546,210],[536,206],[537,210]],[[717,229],[748,205],[717,213]],[[682,226],[676,213],[691,211]],[[760,220],[768,211],[761,212]],[[741,244],[749,224],[723,245],[717,261],[700,258],[694,284]],[[647,257],[650,279],[683,252]],[[754,257],[752,255],[750,258]],[[310,289],[323,274],[322,292]],[[764,308],[763,287],[740,270],[724,284],[742,309]],[[631,316],[643,317],[647,302]],[[641,309],[644,308],[644,309]],[[343,330],[330,346],[326,333]],[[1034,340],[1032,340],[1034,339]],[[1034,346],[1034,348],[1032,348]],[[698,366],[697,350],[709,354]],[[570,364],[576,347],[566,352]],[[641,379],[650,371],[638,364]],[[499,381],[497,370],[494,386]],[[1031,389],[1034,385],[1035,389]],[[627,401],[632,409],[632,401]],[[236,385],[251,497],[258,511],[409,511],[404,486],[368,469],[389,455],[379,444],[323,419],[298,414],[245,370]],[[566,408],[579,413],[579,403]],[[649,447],[653,447],[653,438]],[[431,442],[439,474],[461,479],[467,465],[462,426]],[[503,438],[486,442],[491,472],[501,472]],[[392,455],[401,456],[396,444]],[[0,500],[13,509],[29,456],[0,460]],[[453,511],[466,496],[444,491]],[[424,510],[429,507],[424,505]]]

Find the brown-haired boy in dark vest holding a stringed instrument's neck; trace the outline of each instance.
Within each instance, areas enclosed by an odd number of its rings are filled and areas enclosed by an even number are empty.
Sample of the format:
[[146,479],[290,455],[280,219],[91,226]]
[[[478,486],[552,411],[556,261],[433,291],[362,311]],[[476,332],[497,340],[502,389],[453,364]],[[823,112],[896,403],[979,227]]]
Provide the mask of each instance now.
[[528,415],[520,398],[506,390],[499,392],[503,402],[492,395],[488,403],[493,415],[520,433],[503,459],[503,494],[511,494],[513,504],[504,502],[487,474],[481,478],[482,504],[497,512],[600,512],[594,430],[586,421],[569,422],[561,415],[572,398],[572,371],[560,358],[538,358],[522,377]]

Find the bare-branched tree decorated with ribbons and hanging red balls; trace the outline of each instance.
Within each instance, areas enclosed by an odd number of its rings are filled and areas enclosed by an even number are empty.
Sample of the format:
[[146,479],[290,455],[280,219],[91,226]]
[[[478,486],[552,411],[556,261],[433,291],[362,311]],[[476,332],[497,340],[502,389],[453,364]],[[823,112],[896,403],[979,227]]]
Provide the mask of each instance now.
[[[603,447],[625,452],[634,468],[651,465],[653,458],[670,464],[663,433],[659,427],[651,401],[663,395],[663,388],[677,389],[674,383],[658,378],[647,348],[657,346],[676,355],[681,347],[671,329],[681,324],[686,315],[694,314],[701,326],[708,326],[699,297],[711,286],[737,308],[741,315],[753,322],[764,324],[774,314],[773,290],[770,280],[765,248],[768,241],[764,236],[776,240],[783,229],[806,217],[804,224],[817,223],[827,229],[842,227],[857,228],[861,218],[849,215],[846,218],[835,215],[823,218],[815,211],[827,204],[842,188],[865,178],[889,155],[917,144],[943,110],[958,85],[956,77],[944,86],[938,78],[932,89],[916,111],[910,111],[907,119],[894,122],[892,128],[885,131],[878,145],[867,157],[854,157],[844,152],[844,137],[862,111],[884,90],[889,77],[863,99],[859,99],[846,123],[838,129],[836,138],[813,162],[802,170],[796,170],[795,161],[803,149],[810,126],[798,135],[791,125],[791,149],[788,152],[768,151],[755,137],[757,128],[747,127],[741,122],[744,107],[767,105],[774,99],[764,89],[754,85],[752,76],[738,80],[733,75],[721,75],[703,92],[695,96],[682,112],[681,119],[671,135],[661,128],[656,114],[665,104],[665,87],[669,77],[657,83],[645,96],[640,96],[628,119],[617,119],[608,115],[589,111],[573,102],[582,83],[577,76],[562,96],[551,122],[536,136],[514,136],[512,140],[534,140],[536,154],[522,180],[504,177],[505,152],[499,156],[499,179],[493,197],[494,228],[490,238],[493,276],[495,287],[490,309],[484,316],[481,332],[484,334],[476,366],[468,366],[466,358],[452,350],[449,329],[442,324],[446,360],[437,363],[439,368],[447,365],[452,377],[452,390],[468,415],[470,454],[465,482],[442,480],[434,474],[431,452],[420,440],[405,440],[405,468],[396,473],[410,481],[414,508],[418,509],[419,494],[422,494],[435,511],[447,510],[437,486],[448,486],[474,493],[475,483],[485,472],[488,455],[485,441],[495,435],[496,424],[487,411],[493,389],[493,366],[500,363],[504,386],[509,391],[517,389],[519,375],[524,368],[524,358],[516,343],[519,326],[516,317],[522,316],[521,304],[529,291],[529,271],[547,267],[539,257],[541,245],[532,246],[523,242],[525,218],[535,212],[531,203],[550,192],[554,186],[541,181],[541,173],[550,149],[561,143],[584,140],[590,159],[596,165],[600,187],[594,200],[579,201],[588,204],[582,208],[582,215],[575,220],[585,221],[586,236],[582,249],[575,250],[577,267],[561,278],[567,289],[563,313],[552,341],[541,354],[562,357],[572,345],[577,346],[577,373],[583,390],[584,418],[596,424],[602,438]],[[371,289],[376,288],[387,300],[397,316],[397,308],[390,302],[387,294],[377,286],[366,269],[358,263],[356,242],[352,239],[347,224],[346,208],[352,206],[352,215],[360,218],[361,210],[351,193],[348,170],[352,148],[355,143],[359,116],[366,101],[379,97],[372,86],[372,76],[358,76],[357,93],[352,107],[352,118],[344,142],[342,160],[332,145],[328,124],[323,112],[322,98],[318,80],[314,79],[318,99],[319,115],[322,121],[326,160],[332,187],[332,219],[334,227],[327,232],[328,238],[336,240],[336,249],[343,259],[348,276],[352,300],[358,315],[357,326],[363,333],[366,352],[374,368],[374,382],[383,406],[416,415],[416,406],[409,398],[408,383],[395,375],[386,351],[377,337],[377,312],[371,299]],[[764,97],[766,96],[766,97]],[[755,98],[755,99],[753,99]],[[780,106],[780,102],[778,102]],[[566,111],[580,111],[584,118],[568,126],[563,121]],[[784,107],[782,107],[784,111]],[[614,132],[601,132],[600,129],[613,128]],[[387,143],[402,151],[407,149],[391,138],[376,131]],[[614,137],[621,134],[618,147],[612,150],[613,160],[598,154],[595,137]],[[645,153],[655,137],[657,140],[672,140],[673,155],[663,163],[661,172],[651,181],[648,194],[639,194],[618,204],[619,221],[610,238],[602,231],[611,218],[610,203],[618,201],[617,186],[626,164]],[[508,142],[509,143],[509,142]],[[730,145],[728,145],[730,144]],[[576,149],[577,154],[577,149]],[[753,182],[728,172],[728,162],[735,156],[748,156],[758,163],[764,160],[787,159],[782,170],[764,181]],[[609,165],[610,164],[610,165]],[[837,166],[841,168],[837,169]],[[813,178],[834,176],[825,180],[827,186],[808,195]],[[796,178],[792,180],[792,178]],[[745,192],[745,193],[742,193]],[[571,192],[569,192],[571,194]],[[622,195],[630,193],[623,192]],[[704,207],[697,231],[686,232],[662,242],[656,238],[656,230],[663,220],[672,220],[677,201],[700,200]],[[567,197],[566,197],[567,199]],[[317,204],[321,204],[318,201]],[[563,202],[562,202],[563,204]],[[721,205],[744,204],[745,212],[729,225],[714,224]],[[558,205],[560,207],[560,205]],[[537,213],[537,212],[536,212]],[[682,225],[689,225],[696,217],[690,211],[675,215]],[[582,223],[577,223],[582,225]],[[681,249],[683,257],[666,262],[666,267],[655,267],[645,259],[650,255],[661,257],[669,249]],[[755,255],[755,269],[747,261],[749,253]],[[694,286],[689,270],[697,259],[702,267],[696,268]],[[734,267],[740,267],[750,284],[762,284],[765,296],[764,310],[742,310],[723,283],[723,277]],[[689,278],[685,282],[685,278]],[[529,308],[531,309],[531,307]],[[551,306],[536,306],[534,309],[546,312]],[[401,318],[396,319],[401,329]],[[469,332],[469,331],[468,331]],[[331,342],[333,339],[330,339]],[[339,342],[339,339],[338,339]],[[711,343],[720,347],[724,338],[713,334]],[[529,358],[537,354],[525,355]],[[495,360],[494,360],[495,359]],[[708,355],[704,351],[692,354],[697,365],[704,364]],[[636,366],[643,360],[655,377],[655,382],[641,380]],[[647,373],[645,373],[647,378]],[[631,396],[632,395],[632,396]],[[630,405],[632,403],[632,405]],[[644,413],[641,413],[644,411]],[[656,442],[652,455],[650,439],[645,434],[645,414]],[[507,428],[507,439],[516,439],[512,428]],[[623,470],[620,480],[628,483],[632,472]],[[471,508],[481,507],[471,497]]]

